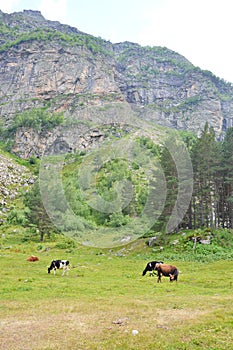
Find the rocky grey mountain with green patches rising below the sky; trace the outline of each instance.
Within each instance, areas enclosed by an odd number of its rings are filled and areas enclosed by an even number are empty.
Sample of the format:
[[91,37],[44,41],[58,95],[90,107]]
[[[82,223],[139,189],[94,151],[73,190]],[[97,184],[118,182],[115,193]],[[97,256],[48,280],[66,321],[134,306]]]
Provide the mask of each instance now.
[[[218,138],[233,126],[232,84],[168,48],[112,44],[32,10],[0,11],[0,33],[1,133],[14,130],[21,157],[88,148],[129,115],[196,134],[208,122]],[[30,111],[63,124],[35,128]]]

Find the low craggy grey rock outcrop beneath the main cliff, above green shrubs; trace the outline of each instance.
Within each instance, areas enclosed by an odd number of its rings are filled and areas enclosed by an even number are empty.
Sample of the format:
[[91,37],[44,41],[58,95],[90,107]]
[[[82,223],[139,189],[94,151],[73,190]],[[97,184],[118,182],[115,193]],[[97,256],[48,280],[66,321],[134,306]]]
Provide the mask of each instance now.
[[98,147],[109,137],[121,137],[130,132],[130,127],[111,123],[91,128],[85,124],[56,127],[52,131],[38,132],[32,128],[19,128],[12,151],[21,158],[56,155],[87,151]]

